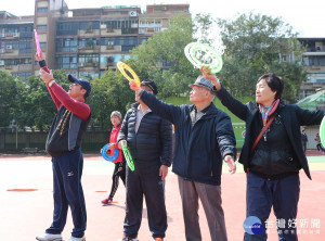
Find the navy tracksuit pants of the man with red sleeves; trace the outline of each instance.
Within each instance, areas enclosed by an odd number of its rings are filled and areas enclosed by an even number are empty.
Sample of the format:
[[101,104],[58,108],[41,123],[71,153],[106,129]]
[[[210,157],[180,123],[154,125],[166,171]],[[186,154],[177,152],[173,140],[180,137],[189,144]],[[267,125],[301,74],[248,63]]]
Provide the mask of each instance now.
[[72,236],[81,238],[86,230],[86,204],[81,186],[83,157],[77,149],[58,157],[52,157],[53,168],[53,223],[47,233],[58,234],[66,224],[68,206],[70,207],[74,229]]

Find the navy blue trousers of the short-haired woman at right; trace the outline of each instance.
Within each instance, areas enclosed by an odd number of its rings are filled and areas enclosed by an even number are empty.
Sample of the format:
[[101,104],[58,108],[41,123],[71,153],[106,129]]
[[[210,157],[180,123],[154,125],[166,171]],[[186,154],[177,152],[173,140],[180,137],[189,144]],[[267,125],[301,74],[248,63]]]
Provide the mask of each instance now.
[[[273,206],[276,220],[270,220],[277,227],[280,241],[297,241],[297,229],[294,221],[300,193],[299,174],[287,176],[278,180],[268,180],[252,173],[247,175],[246,215],[258,217],[263,225],[261,234],[245,232],[245,241],[264,241],[265,223]],[[278,223],[277,223],[278,220]]]

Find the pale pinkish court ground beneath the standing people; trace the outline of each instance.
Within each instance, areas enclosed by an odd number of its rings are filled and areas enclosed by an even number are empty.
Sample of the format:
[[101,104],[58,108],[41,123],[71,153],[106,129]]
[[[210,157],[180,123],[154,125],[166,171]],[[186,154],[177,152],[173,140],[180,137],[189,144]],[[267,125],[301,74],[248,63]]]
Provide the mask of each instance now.
[[[325,240],[325,155],[308,152],[312,178],[310,181],[303,173],[299,202],[300,241]],[[116,241],[122,233],[125,216],[125,188],[121,185],[116,193],[116,203],[102,206],[100,201],[106,198],[110,188],[113,165],[99,155],[86,155],[82,185],[88,211],[88,241]],[[225,166],[224,166],[225,167]],[[243,240],[243,221],[245,219],[245,182],[246,176],[240,165],[235,175],[222,176],[222,198],[225,221],[230,241]],[[9,191],[12,189],[36,189],[28,192]],[[50,225],[53,211],[52,169],[49,156],[0,155],[0,237],[5,241],[29,241],[44,231]],[[183,241],[184,226],[181,201],[178,192],[177,176],[171,172],[167,178],[166,198],[168,210],[167,241]],[[203,240],[208,241],[209,230],[203,212],[199,208]],[[275,223],[272,215],[270,220]],[[272,223],[271,223],[272,224]],[[68,214],[63,232],[68,240],[72,230],[72,218]],[[270,228],[270,239],[277,240],[275,224]],[[146,208],[139,238],[150,241]]]

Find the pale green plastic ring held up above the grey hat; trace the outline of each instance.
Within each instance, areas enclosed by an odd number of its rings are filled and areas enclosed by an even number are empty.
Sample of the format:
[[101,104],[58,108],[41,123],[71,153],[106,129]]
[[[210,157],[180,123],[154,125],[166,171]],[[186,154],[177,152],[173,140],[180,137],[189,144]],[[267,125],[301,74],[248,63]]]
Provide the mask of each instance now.
[[222,68],[222,59],[220,54],[211,47],[191,42],[184,49],[187,60],[197,68],[202,66],[209,66],[212,74],[216,74]]

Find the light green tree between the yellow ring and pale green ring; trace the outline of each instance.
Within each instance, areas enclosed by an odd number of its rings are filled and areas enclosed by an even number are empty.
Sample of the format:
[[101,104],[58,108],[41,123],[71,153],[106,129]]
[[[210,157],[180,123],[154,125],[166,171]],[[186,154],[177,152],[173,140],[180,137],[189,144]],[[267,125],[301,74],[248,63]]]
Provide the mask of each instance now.
[[185,46],[193,41],[192,20],[180,14],[171,17],[166,30],[131,51],[136,62],[144,64],[148,78],[157,83],[160,97],[180,96],[199,74],[184,54]]

